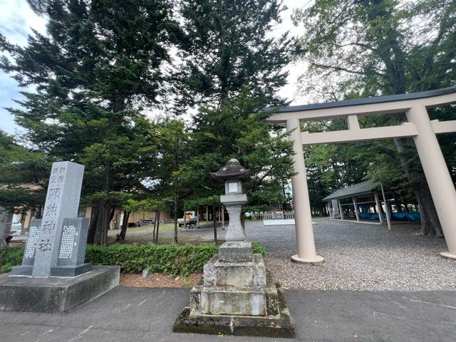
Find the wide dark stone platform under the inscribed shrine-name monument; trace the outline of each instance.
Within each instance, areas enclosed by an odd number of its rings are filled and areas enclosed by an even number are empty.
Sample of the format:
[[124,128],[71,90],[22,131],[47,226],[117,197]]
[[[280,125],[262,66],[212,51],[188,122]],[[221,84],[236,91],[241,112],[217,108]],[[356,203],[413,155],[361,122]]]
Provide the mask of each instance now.
[[0,311],[65,313],[118,286],[120,266],[92,266],[71,278],[0,274]]

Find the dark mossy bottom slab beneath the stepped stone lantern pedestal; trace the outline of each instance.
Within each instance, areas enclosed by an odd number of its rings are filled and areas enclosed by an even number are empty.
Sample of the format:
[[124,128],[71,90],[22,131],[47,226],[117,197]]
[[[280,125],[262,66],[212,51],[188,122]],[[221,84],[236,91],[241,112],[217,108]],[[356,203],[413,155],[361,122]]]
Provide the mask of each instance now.
[[177,317],[172,331],[175,333],[294,338],[293,320],[284,293],[281,289],[277,289],[277,294],[279,295],[280,314],[276,317],[204,314],[190,316],[190,306],[187,306]]

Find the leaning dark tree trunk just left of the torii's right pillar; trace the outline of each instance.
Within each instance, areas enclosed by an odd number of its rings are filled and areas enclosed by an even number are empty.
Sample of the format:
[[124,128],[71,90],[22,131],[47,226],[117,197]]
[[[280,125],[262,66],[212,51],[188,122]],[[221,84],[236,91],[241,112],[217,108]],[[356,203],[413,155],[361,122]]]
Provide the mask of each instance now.
[[410,180],[410,186],[420,205],[421,234],[443,237],[442,226],[430,195],[423,167],[418,165],[418,152],[416,152],[413,141],[410,138],[398,138],[394,140],[394,143],[398,149],[400,164]]

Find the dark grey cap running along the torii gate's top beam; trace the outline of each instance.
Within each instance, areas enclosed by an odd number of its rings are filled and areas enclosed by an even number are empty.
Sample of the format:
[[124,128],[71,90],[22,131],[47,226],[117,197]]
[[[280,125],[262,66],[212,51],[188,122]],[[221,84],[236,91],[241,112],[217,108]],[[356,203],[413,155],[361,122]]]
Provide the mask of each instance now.
[[[417,98],[430,98],[432,96],[439,96],[439,95],[445,95],[445,94],[450,94],[450,93],[456,93],[456,87],[428,90],[428,91],[422,91],[420,93],[375,96],[373,98],[356,98],[353,100],[344,100],[344,101],[326,102],[326,103],[314,103],[311,105],[290,105],[287,107],[278,108],[278,109],[274,110],[274,113],[301,112],[304,110],[347,107],[349,105],[366,105],[369,103],[383,103],[383,102],[393,102],[393,101],[402,101],[402,100],[414,100]],[[271,109],[273,109],[273,108],[271,108]]]

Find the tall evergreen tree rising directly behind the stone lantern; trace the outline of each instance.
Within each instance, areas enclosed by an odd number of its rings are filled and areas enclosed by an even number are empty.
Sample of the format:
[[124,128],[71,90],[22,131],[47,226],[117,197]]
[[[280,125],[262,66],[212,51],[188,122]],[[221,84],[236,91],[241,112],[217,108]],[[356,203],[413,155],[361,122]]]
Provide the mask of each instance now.
[[279,0],[182,0],[179,9],[184,38],[176,105],[200,107],[182,165],[182,180],[192,185],[189,199],[203,203],[222,193],[209,172],[236,157],[252,169],[249,207],[266,209],[284,199],[292,170],[284,132],[257,112],[284,103],[276,92],[286,84],[290,40],[271,35],[284,6]]

